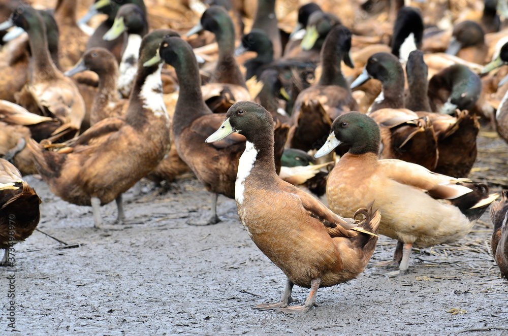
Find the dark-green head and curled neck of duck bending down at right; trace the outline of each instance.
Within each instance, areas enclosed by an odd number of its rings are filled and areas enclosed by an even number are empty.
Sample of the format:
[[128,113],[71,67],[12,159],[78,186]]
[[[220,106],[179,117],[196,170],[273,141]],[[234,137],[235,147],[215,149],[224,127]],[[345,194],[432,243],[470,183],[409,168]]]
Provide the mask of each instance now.
[[429,80],[428,96],[433,112],[453,114],[455,109],[470,110],[481,93],[480,77],[462,64],[451,65]]

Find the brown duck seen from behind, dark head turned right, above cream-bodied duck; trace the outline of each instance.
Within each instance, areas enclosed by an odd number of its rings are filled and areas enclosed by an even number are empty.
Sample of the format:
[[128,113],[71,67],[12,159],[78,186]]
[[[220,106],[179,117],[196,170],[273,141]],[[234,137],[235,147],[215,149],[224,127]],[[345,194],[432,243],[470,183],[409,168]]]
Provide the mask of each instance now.
[[340,69],[342,61],[354,68],[349,56],[351,35],[351,31],[342,25],[333,27],[328,33],[321,52],[321,78],[316,85],[300,92],[295,100],[288,147],[304,151],[317,149],[337,116],[358,110],[358,103]]

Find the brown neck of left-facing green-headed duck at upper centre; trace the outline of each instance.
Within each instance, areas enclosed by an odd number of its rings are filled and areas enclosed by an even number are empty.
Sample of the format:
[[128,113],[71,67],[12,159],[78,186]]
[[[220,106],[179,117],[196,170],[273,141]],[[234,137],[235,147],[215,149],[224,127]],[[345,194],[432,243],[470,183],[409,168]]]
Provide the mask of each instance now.
[[245,77],[234,57],[235,28],[231,20],[225,20],[222,28],[215,32],[215,40],[217,40],[219,58],[210,82],[234,84],[247,88]]

